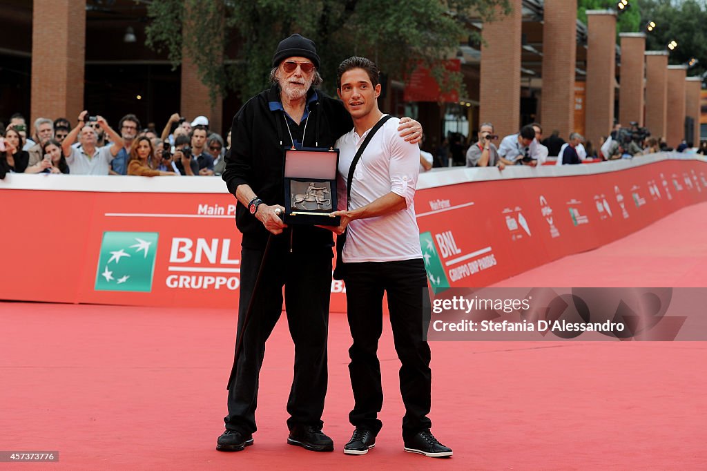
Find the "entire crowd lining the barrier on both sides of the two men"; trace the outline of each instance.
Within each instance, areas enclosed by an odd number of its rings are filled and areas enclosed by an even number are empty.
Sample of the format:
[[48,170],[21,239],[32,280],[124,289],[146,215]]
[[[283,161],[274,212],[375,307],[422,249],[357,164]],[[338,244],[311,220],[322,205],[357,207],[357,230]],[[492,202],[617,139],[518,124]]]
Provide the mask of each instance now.
[[[30,133],[28,135],[28,133]],[[661,136],[655,138],[636,123],[622,128],[614,124],[609,136],[602,136],[598,146],[578,133],[565,141],[554,130],[543,139],[542,127],[534,122],[517,134],[499,139],[493,123],[479,126],[477,141],[464,145],[464,136],[445,137],[433,155],[420,151],[421,172],[434,167],[464,165],[493,167],[506,165],[578,164],[585,161],[609,161],[634,158],[661,151],[707,153],[707,142],[695,147],[682,142],[676,149],[667,146]],[[496,145],[498,143],[498,146]],[[136,115],[122,117],[113,130],[100,116],[83,111],[76,126],[66,118],[40,117],[28,128],[25,118],[16,113],[7,127],[0,127],[0,178],[6,173],[71,173],[72,175],[221,175],[224,156],[230,146],[209,130],[209,118],[197,116],[189,121],[179,113],[170,116],[162,134],[154,125],[141,127]]]

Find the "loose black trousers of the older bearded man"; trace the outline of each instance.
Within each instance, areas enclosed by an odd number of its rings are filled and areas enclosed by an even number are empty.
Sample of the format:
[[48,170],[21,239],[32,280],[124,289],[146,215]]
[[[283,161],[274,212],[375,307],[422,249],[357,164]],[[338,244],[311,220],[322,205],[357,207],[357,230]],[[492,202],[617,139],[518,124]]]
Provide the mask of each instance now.
[[[282,239],[282,240],[280,240]],[[287,401],[288,428],[296,424],[321,427],[327,394],[327,330],[332,286],[332,250],[311,252],[288,250],[284,238],[276,238],[266,266],[250,320],[243,336],[243,349],[228,390],[226,429],[252,434],[256,431],[258,376],[265,354],[265,341],[282,312],[285,286],[287,322],[295,344],[294,378]],[[243,248],[240,269],[238,335],[253,293],[263,252]]]

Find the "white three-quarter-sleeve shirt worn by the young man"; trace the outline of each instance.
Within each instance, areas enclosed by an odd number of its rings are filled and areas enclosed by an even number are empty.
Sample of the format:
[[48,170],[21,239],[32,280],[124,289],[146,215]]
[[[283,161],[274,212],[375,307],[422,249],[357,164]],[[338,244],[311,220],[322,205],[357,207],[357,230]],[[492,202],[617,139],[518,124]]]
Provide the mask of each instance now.
[[[398,118],[382,125],[363,151],[354,171],[349,209],[366,206],[385,194],[404,197],[407,208],[385,216],[356,219],[349,223],[341,259],[346,262],[391,262],[422,257],[420,230],[415,219],[413,198],[419,175],[420,150],[399,136]],[[358,148],[368,136],[356,129],[337,140],[339,177],[338,209],[346,209],[346,179]]]

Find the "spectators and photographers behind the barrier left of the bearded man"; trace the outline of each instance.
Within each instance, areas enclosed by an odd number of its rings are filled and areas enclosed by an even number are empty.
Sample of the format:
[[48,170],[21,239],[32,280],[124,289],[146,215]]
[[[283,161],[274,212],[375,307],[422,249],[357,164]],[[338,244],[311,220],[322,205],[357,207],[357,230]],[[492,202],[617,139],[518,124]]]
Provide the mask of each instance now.
[[[230,144],[230,132],[227,137]],[[86,111],[75,126],[64,117],[40,117],[31,129],[16,113],[0,126],[0,178],[7,173],[221,175],[226,149],[205,116],[189,121],[175,113],[158,136],[153,125],[141,127],[133,114],[114,130],[105,118]]]

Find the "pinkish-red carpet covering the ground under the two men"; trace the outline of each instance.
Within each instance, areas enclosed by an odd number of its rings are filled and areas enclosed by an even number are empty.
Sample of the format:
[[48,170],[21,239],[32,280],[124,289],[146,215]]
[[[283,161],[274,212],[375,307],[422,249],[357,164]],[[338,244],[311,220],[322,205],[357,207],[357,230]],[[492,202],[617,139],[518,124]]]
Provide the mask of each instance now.
[[[696,286],[707,204],[506,286]],[[59,450],[23,469],[705,469],[707,346],[699,342],[434,342],[433,432],[449,460],[404,453],[390,327],[384,427],[346,456],[352,405],[344,315],[332,314],[325,431],[334,453],[288,446],[292,343],[281,320],[261,375],[255,445],[214,450],[233,359],[230,310],[0,303],[0,450]],[[1,465],[0,465],[1,466]],[[8,465],[9,466],[9,465]]]

